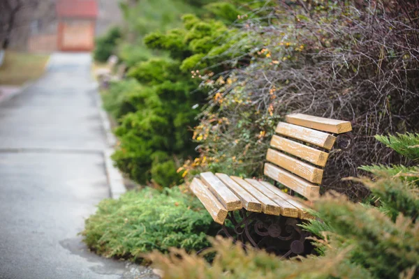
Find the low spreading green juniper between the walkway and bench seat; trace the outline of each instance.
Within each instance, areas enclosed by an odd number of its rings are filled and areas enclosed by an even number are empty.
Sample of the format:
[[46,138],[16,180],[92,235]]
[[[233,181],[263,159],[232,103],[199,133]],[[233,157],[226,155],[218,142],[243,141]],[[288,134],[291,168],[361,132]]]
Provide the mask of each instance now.
[[199,250],[216,231],[209,213],[196,197],[171,188],[163,193],[145,188],[120,199],[105,199],[86,220],[82,235],[92,250],[105,257],[136,262],[142,254],[170,247]]

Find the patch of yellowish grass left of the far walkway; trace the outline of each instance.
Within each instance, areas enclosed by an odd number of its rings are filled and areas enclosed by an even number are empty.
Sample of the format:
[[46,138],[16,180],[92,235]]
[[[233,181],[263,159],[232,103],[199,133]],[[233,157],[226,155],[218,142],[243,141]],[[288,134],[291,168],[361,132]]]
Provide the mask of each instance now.
[[22,85],[36,80],[45,71],[49,55],[6,51],[0,67],[0,84]]

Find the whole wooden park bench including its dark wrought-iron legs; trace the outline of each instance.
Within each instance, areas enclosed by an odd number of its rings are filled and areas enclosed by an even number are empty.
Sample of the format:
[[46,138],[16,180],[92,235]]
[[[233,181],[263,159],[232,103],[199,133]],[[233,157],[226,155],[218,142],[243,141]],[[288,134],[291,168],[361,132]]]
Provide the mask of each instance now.
[[[214,221],[223,226],[223,234],[233,237],[231,229],[229,231],[224,224],[228,219],[233,224],[233,231],[238,234],[235,240],[250,242],[256,248],[266,248],[260,243],[266,242],[266,236],[269,236],[282,240],[279,248],[282,252],[279,254],[286,257],[302,254],[308,234],[302,232],[297,224],[313,218],[307,211],[308,204],[319,195],[329,152],[335,142],[340,149],[348,149],[352,144],[351,130],[348,121],[307,114],[289,114],[286,122],[278,123],[277,135],[272,137],[271,148],[267,150],[264,174],[288,188],[291,195],[267,181],[212,172],[204,172],[194,178],[190,188]],[[307,202],[294,197],[294,193],[307,199]],[[237,213],[241,221],[237,220]],[[274,221],[274,218],[269,218],[272,216],[282,218]],[[255,232],[260,237],[250,235]],[[284,232],[288,234],[284,235]],[[291,234],[293,237],[290,239]],[[284,241],[289,244],[285,248]]]

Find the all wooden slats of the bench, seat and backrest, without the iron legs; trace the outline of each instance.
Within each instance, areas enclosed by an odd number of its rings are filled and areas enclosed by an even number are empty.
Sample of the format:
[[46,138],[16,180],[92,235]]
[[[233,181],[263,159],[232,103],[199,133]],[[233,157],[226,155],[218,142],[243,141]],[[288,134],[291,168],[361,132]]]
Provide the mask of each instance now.
[[[324,167],[335,143],[340,149],[351,146],[351,130],[349,121],[307,114],[288,114],[285,122],[278,123],[263,174],[287,187],[291,195],[266,181],[211,172],[193,179],[191,190],[221,225],[229,211],[239,209],[302,220],[313,218],[307,204],[320,194]],[[295,198],[294,193],[308,201]]]

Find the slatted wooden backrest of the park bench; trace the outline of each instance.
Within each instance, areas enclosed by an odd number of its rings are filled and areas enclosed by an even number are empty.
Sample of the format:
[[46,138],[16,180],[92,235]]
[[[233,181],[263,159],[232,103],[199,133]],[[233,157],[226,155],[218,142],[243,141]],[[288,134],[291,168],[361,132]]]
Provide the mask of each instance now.
[[291,190],[314,199],[318,197],[329,151],[335,144],[333,134],[352,130],[351,122],[288,114],[279,122],[267,150],[264,174]]

